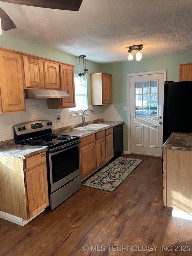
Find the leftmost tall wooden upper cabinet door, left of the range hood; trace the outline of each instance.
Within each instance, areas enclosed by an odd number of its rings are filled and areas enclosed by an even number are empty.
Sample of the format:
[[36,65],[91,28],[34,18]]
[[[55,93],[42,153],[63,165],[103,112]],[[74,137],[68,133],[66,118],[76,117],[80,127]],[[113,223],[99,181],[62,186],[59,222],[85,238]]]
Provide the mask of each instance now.
[[1,113],[25,112],[21,55],[1,50]]

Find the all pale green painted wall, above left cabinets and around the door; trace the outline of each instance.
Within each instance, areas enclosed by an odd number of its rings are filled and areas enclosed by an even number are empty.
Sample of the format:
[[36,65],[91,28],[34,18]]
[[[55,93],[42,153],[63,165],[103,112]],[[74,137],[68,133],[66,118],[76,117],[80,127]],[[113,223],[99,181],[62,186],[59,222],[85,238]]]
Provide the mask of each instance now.
[[[2,34],[0,36],[0,46],[23,53],[29,53],[41,56],[47,59],[56,60],[75,65],[75,74],[79,73],[79,56],[73,56],[58,50],[34,44],[20,38]],[[79,53],[83,54],[83,53]],[[126,53],[125,53],[126,54]],[[125,122],[124,125],[124,149],[128,150],[128,133],[127,133],[127,112],[123,107],[127,106],[127,74],[167,70],[167,80],[179,81],[179,64],[191,63],[192,53],[184,53],[170,56],[163,56],[152,59],[142,59],[140,62],[117,62],[110,64],[98,64],[86,61],[86,67],[90,73],[104,72],[113,75],[113,106]],[[88,88],[88,105],[91,105],[91,84],[90,78],[87,80]],[[128,110],[129,111],[129,110]]]

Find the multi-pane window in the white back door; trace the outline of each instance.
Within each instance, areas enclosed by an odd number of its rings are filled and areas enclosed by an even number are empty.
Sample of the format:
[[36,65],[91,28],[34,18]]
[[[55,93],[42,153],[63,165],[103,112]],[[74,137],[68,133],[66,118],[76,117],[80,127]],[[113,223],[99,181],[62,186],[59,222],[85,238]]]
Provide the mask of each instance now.
[[135,118],[157,118],[158,81],[135,83]]

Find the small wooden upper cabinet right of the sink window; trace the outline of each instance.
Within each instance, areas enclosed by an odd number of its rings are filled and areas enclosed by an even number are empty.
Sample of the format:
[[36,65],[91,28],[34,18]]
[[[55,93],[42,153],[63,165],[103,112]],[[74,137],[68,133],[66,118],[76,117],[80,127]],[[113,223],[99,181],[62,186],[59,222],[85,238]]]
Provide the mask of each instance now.
[[91,105],[112,104],[112,75],[95,73],[90,77]]

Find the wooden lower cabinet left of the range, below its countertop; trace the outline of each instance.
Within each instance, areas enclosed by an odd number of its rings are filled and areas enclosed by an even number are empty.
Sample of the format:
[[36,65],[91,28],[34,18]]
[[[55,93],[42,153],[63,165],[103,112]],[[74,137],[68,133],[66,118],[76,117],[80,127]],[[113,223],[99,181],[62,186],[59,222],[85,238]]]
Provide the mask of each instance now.
[[[28,169],[27,169],[28,168]],[[1,211],[29,220],[49,205],[46,156],[0,156]]]

